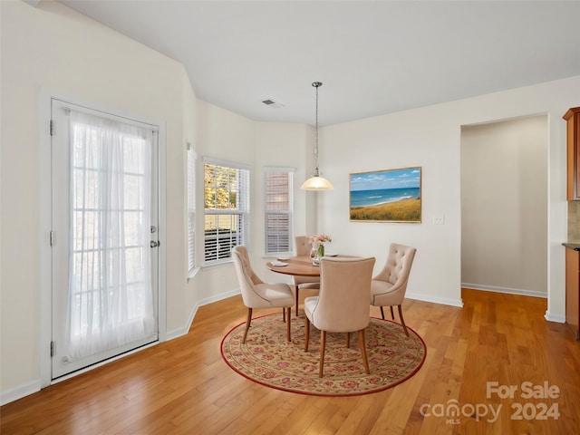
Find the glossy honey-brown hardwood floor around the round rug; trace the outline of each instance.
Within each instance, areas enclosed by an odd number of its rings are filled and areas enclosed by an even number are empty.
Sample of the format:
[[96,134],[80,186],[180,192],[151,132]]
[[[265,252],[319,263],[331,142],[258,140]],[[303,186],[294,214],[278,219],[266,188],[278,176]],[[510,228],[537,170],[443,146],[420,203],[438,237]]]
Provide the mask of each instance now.
[[0,432],[580,433],[580,342],[546,322],[546,300],[463,290],[463,301],[405,300],[405,321],[428,348],[420,371],[387,391],[332,398],[272,390],[227,367],[221,338],[246,314],[232,297],[199,308],[187,336],[6,404]]

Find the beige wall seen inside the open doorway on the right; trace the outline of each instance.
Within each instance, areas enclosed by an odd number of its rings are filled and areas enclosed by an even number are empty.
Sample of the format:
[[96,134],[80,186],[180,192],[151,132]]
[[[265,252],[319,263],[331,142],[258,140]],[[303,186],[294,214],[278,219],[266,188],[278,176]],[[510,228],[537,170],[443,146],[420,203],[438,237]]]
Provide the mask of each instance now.
[[461,130],[461,281],[547,295],[547,117]]

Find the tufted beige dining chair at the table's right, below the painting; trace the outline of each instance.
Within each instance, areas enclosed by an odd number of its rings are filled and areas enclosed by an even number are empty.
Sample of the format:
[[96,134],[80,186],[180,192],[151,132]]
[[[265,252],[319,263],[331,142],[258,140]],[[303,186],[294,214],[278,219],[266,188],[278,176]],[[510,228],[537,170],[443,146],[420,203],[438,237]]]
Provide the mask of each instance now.
[[389,247],[387,264],[382,268],[379,275],[372,278],[371,304],[381,307],[381,315],[384,319],[383,306],[391,307],[391,318],[394,320],[395,314],[392,311],[393,305],[399,307],[399,318],[402,329],[409,336],[407,325],[402,317],[401,304],[407,291],[407,282],[413,264],[413,258],[417,249],[392,243]]

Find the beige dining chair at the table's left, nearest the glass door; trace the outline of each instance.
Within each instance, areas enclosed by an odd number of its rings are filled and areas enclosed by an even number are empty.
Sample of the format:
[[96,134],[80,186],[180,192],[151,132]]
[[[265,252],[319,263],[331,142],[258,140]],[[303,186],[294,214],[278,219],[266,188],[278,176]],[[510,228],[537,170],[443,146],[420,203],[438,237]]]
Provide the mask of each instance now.
[[[294,295],[290,285],[268,284],[262,281],[252,270],[247,247],[237,246],[232,249],[234,265],[236,266],[237,280],[242,292],[242,299],[247,306],[246,331],[242,343],[246,343],[247,331],[252,322],[254,308],[279,308],[282,307],[283,317],[286,321],[286,335],[288,342],[290,337],[290,310],[294,305]],[[284,311],[286,310],[286,312]]]

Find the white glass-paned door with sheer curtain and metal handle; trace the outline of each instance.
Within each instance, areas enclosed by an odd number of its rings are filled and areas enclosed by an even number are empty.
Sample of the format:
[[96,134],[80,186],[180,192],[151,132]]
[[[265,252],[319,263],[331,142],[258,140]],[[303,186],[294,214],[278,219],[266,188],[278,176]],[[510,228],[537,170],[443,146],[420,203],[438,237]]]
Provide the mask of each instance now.
[[158,340],[158,131],[51,104],[56,379]]

